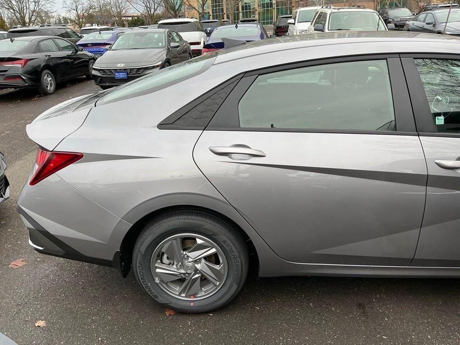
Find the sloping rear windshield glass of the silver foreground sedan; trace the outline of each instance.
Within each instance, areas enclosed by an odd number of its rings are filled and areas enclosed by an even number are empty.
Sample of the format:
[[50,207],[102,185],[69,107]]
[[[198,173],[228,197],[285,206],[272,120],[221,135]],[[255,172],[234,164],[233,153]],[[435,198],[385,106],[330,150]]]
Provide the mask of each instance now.
[[141,96],[184,82],[206,71],[213,64],[215,58],[214,54],[201,55],[183,63],[150,73],[108,91],[96,102],[96,106]]

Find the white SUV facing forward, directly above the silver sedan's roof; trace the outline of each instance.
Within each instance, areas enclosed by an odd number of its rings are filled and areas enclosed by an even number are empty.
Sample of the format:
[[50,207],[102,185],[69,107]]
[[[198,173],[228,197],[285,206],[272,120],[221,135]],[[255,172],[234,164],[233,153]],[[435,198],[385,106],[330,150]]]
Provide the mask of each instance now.
[[[394,29],[393,24],[388,28]],[[341,30],[386,31],[383,19],[373,9],[365,7],[324,6],[316,12],[307,33],[331,32]]]

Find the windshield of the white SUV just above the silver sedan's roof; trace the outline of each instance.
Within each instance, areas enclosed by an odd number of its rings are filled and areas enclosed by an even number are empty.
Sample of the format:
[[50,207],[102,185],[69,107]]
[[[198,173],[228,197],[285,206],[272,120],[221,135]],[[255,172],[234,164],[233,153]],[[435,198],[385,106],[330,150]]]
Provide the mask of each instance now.
[[329,16],[329,30],[385,30],[380,16],[370,11],[337,11]]

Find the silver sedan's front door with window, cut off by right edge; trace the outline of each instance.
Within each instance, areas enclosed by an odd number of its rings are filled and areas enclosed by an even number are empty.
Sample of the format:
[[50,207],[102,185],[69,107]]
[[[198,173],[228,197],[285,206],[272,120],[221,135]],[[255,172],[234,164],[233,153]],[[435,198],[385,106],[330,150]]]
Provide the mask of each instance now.
[[460,58],[402,58],[428,166],[414,265],[460,266]]

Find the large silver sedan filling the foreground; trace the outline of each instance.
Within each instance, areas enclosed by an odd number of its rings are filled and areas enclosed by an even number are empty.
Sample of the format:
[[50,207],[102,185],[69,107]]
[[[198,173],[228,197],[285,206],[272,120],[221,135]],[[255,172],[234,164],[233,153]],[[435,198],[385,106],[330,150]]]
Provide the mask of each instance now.
[[37,252],[132,268],[184,312],[232,300],[249,262],[458,277],[459,85],[459,39],[443,35],[214,52],[38,116],[18,210]]

